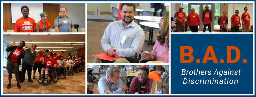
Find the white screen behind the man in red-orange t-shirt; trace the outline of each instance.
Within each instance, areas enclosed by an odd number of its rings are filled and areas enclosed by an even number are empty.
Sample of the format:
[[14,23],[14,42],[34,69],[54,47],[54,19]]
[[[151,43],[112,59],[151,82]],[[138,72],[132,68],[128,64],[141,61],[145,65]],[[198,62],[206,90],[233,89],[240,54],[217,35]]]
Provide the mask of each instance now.
[[12,23],[23,16],[21,7],[24,5],[29,9],[28,17],[34,19],[35,23],[41,20],[40,13],[43,12],[43,3],[11,3]]

